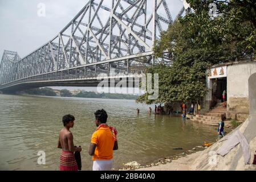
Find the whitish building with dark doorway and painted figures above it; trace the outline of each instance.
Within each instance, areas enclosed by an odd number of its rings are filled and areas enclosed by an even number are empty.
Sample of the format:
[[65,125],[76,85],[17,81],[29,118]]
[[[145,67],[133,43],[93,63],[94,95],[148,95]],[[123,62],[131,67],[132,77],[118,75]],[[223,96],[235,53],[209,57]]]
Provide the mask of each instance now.
[[206,71],[209,93],[206,95],[204,109],[209,110],[216,102],[221,102],[222,93],[226,90],[227,117],[245,121],[249,116],[249,78],[254,73],[256,60],[210,67]]

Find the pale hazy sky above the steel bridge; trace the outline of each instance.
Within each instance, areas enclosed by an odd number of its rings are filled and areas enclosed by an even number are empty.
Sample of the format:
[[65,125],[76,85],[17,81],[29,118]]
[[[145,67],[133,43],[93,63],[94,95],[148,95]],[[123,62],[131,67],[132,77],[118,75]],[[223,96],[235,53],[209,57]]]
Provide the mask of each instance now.
[[[0,0],[0,59],[4,49],[17,51],[19,56],[24,57],[47,43],[87,2],[88,0]],[[104,5],[110,2],[105,0]],[[174,19],[182,2],[166,2]],[[46,5],[46,16],[38,16],[39,3]]]

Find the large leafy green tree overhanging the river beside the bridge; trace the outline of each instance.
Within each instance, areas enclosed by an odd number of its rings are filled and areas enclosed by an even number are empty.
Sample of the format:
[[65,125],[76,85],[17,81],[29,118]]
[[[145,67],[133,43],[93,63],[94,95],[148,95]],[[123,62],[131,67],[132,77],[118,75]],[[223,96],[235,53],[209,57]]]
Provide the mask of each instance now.
[[[159,98],[149,93],[137,102],[198,101],[205,97],[205,70],[210,65],[252,60],[255,56],[256,2],[187,0],[193,13],[178,19],[155,42],[156,57],[168,52],[171,66],[152,65],[147,73],[159,73]],[[209,16],[215,3],[216,17]]]

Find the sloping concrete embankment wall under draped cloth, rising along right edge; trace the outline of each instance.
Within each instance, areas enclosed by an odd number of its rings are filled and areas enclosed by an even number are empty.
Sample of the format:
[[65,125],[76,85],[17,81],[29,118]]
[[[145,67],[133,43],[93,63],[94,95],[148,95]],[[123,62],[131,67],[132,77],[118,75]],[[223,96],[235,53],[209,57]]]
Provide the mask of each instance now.
[[[248,170],[255,171],[256,165],[253,164],[255,148],[256,148],[256,73],[252,74],[248,80],[244,80],[245,84],[249,91],[249,104],[250,104],[250,115],[249,118],[246,119],[242,125],[238,126],[236,129],[227,134],[223,139],[218,140],[212,146],[202,151],[200,155],[198,155],[197,159],[190,159],[193,161],[190,164],[190,169],[192,170],[218,170],[218,171],[227,171],[227,170]],[[225,139],[227,139],[231,134],[235,131],[239,130],[246,138],[247,142],[250,145],[250,164],[245,164],[245,160],[243,158],[243,150],[241,144],[237,144],[233,149],[231,149],[225,156],[221,155],[213,155],[214,151],[217,151],[219,148],[223,146],[225,143]],[[212,155],[209,155],[212,154]],[[209,163],[213,161],[212,156],[214,158],[215,163]]]

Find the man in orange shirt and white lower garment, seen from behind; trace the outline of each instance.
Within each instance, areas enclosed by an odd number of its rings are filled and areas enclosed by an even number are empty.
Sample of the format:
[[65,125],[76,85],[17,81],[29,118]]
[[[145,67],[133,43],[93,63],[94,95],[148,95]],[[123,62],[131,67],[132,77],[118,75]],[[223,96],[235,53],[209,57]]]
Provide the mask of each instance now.
[[113,166],[113,150],[118,149],[117,131],[106,124],[108,114],[104,109],[95,113],[96,131],[92,134],[89,154],[94,160],[93,171],[110,171]]

